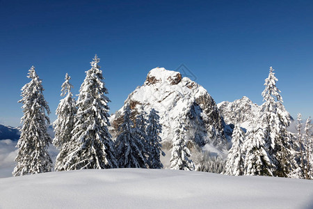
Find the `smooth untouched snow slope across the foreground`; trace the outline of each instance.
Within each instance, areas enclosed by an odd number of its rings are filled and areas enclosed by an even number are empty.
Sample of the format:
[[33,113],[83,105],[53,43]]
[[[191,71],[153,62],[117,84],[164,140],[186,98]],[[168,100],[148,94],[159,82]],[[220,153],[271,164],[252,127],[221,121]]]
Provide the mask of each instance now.
[[313,181],[153,169],[0,179],[0,208],[312,208]]

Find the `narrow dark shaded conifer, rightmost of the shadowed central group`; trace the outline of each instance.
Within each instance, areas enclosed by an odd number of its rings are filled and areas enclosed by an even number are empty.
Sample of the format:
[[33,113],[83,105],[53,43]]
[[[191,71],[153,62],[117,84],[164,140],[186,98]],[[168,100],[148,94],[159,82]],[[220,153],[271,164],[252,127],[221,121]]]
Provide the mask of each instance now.
[[161,163],[160,154],[165,156],[165,153],[161,150],[161,137],[159,133],[162,131],[162,127],[159,123],[160,116],[158,111],[152,109],[149,114],[148,125],[147,125],[147,144],[149,144],[147,153],[148,159],[147,164],[150,169],[162,169],[163,164]]

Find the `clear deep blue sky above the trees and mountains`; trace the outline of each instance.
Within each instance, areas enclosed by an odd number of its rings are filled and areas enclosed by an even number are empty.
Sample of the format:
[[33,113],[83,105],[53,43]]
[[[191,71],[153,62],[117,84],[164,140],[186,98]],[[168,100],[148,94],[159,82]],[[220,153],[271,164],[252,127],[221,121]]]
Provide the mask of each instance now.
[[184,63],[216,102],[262,104],[273,66],[292,116],[313,116],[313,1],[0,0],[0,124],[19,125],[31,65],[51,121],[65,73],[77,94],[98,54],[111,113],[157,66]]

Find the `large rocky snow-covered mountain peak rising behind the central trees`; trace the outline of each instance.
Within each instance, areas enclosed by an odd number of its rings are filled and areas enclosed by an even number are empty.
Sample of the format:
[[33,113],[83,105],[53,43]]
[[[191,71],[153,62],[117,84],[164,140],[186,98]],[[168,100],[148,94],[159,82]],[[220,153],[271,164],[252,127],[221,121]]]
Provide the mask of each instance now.
[[149,113],[152,108],[159,111],[163,144],[172,141],[178,119],[186,118],[190,141],[199,146],[207,145],[208,149],[221,151],[228,148],[225,123],[216,102],[207,90],[188,77],[182,77],[179,72],[165,68],[150,70],[143,86],[138,86],[130,93],[125,105],[111,116],[113,137],[122,122],[122,111],[127,104],[134,110],[134,116],[143,110]]

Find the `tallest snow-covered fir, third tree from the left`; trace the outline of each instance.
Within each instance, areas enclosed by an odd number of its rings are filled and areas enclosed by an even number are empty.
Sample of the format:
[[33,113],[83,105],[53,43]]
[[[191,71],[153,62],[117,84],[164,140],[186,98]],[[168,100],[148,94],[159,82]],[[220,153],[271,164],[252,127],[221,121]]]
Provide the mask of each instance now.
[[100,59],[95,56],[79,89],[72,146],[60,170],[112,169],[118,167],[109,133],[109,98],[104,86]]

